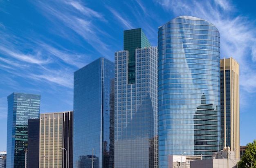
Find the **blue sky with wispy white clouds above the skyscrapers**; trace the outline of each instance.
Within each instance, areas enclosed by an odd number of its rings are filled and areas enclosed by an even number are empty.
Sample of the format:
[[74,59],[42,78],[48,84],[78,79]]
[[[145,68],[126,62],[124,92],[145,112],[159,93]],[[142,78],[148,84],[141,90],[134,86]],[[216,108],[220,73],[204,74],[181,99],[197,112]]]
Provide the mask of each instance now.
[[73,72],[123,49],[123,31],[157,28],[180,15],[220,31],[221,58],[240,64],[240,145],[256,139],[255,0],[0,0],[0,151],[6,150],[7,96],[41,95],[40,113],[73,109]]

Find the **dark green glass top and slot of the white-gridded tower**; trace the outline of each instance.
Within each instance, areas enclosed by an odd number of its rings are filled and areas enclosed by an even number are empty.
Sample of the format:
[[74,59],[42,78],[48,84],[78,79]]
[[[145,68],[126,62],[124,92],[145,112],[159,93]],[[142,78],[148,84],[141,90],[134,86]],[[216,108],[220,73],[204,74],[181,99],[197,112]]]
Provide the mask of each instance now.
[[141,28],[124,31],[124,50],[128,56],[128,84],[135,83],[135,50],[150,47],[151,44]]

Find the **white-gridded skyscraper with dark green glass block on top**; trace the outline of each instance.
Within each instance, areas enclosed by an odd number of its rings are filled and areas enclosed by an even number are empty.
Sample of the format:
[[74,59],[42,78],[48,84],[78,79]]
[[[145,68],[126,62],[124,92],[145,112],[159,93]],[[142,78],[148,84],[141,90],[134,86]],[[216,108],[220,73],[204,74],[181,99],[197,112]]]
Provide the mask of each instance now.
[[156,168],[157,47],[141,29],[124,31],[115,53],[115,167]]

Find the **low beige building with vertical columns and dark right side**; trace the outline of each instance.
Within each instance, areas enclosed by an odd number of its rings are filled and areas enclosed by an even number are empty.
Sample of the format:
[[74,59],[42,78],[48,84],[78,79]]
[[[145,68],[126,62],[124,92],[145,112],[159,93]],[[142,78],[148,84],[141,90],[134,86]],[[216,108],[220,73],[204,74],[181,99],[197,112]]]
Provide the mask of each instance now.
[[72,168],[73,111],[40,114],[39,139],[39,168]]

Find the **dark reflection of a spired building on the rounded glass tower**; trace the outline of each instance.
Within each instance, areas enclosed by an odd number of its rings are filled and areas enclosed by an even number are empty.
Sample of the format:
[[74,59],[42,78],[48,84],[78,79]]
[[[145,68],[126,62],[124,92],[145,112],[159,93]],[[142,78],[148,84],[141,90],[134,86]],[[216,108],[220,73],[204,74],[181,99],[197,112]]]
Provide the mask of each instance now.
[[211,159],[212,152],[219,150],[218,144],[218,109],[213,104],[206,103],[206,96],[201,97],[201,105],[194,115],[194,155],[201,153],[208,155],[204,159]]

